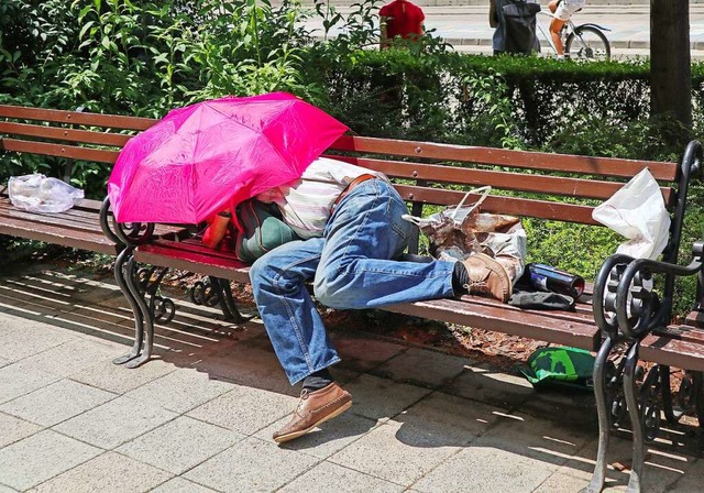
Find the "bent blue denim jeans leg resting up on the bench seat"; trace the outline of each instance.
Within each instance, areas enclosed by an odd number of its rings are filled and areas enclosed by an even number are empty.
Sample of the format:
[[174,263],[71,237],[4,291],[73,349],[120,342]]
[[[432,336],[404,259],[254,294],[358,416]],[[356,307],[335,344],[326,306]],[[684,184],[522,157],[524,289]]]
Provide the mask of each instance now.
[[454,262],[402,262],[416,228],[406,204],[381,179],[356,186],[336,207],[314,281],[316,298],[332,308],[375,308],[453,296]]

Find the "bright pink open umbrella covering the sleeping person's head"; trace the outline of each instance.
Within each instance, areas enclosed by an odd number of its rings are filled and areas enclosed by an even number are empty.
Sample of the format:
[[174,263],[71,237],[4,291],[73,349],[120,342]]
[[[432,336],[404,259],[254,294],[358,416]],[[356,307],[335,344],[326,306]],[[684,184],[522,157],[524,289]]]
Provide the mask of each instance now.
[[110,204],[118,222],[198,223],[299,178],[346,130],[286,92],[175,109],[125,144]]

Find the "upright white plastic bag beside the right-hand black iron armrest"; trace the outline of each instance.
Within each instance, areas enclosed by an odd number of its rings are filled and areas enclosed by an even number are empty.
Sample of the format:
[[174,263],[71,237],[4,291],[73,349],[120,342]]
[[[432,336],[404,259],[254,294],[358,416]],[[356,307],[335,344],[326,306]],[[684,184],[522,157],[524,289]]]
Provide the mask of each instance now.
[[648,168],[596,207],[592,218],[628,239],[617,253],[654,260],[668,244],[670,216],[658,182]]

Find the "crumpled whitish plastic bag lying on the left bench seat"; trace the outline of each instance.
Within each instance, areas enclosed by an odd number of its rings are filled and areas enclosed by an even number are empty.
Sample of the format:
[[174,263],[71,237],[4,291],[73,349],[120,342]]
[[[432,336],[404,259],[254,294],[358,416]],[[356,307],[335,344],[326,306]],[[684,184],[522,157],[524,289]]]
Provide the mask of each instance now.
[[84,190],[40,173],[12,176],[8,194],[14,207],[30,212],[63,212],[84,198]]

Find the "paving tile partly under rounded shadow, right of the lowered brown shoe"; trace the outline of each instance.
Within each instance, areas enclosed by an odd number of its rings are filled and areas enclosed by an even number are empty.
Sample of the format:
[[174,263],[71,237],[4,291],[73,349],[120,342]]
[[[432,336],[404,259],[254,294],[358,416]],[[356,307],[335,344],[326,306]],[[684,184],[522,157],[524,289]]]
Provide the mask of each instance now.
[[486,432],[495,420],[487,406],[437,393],[328,461],[409,486]]

